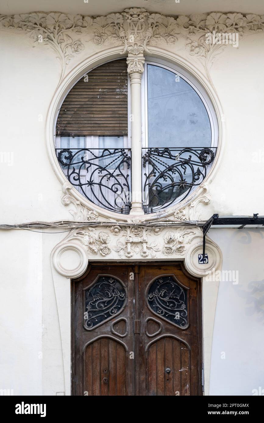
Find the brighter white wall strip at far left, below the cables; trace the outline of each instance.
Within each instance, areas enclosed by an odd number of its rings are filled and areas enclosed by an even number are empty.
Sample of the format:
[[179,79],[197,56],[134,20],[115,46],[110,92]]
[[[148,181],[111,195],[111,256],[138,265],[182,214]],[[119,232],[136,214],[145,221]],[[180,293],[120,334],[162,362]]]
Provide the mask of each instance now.
[[0,389],[42,395],[42,234],[1,232]]

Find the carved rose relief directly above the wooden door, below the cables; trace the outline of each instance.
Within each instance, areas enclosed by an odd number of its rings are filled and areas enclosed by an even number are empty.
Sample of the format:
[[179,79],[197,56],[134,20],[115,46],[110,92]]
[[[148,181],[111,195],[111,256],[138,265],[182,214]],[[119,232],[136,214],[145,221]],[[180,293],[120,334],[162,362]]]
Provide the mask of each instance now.
[[[74,229],[63,242],[80,242],[88,256],[108,258],[157,258],[184,255],[187,244],[201,234],[199,228],[163,228],[139,226],[103,226]],[[116,239],[115,239],[116,238]]]

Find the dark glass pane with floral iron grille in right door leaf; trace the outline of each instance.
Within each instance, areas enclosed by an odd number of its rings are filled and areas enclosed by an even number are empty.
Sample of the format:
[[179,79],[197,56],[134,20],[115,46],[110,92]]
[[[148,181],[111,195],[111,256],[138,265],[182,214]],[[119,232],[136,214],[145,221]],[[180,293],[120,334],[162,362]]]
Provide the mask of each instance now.
[[148,305],[163,319],[179,327],[187,326],[187,290],[171,276],[154,280],[148,290]]

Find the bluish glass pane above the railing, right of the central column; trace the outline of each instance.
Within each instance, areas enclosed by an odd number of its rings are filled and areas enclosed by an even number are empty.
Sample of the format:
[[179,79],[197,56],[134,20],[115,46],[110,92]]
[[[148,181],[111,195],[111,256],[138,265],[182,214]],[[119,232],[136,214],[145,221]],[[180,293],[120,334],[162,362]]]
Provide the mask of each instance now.
[[147,65],[148,147],[209,147],[211,125],[206,108],[184,79],[160,66]]

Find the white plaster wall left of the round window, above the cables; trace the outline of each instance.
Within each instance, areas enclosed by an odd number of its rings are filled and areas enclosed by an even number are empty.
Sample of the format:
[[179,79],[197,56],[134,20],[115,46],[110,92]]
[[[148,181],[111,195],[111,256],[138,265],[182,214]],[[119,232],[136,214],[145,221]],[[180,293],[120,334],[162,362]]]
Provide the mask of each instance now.
[[25,33],[1,31],[0,40],[0,151],[13,156],[11,163],[0,163],[1,223],[69,218],[44,139],[59,65],[49,49],[36,46]]

